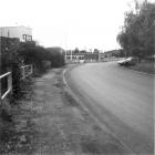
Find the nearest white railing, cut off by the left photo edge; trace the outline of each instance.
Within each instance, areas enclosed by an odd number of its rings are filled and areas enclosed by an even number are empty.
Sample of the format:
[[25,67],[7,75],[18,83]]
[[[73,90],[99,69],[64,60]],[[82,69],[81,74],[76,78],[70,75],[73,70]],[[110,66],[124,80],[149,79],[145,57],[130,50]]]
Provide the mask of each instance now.
[[[7,87],[6,91],[2,91],[2,80],[7,78]],[[12,73],[8,72],[6,74],[0,75],[0,103],[3,99],[12,92]]]

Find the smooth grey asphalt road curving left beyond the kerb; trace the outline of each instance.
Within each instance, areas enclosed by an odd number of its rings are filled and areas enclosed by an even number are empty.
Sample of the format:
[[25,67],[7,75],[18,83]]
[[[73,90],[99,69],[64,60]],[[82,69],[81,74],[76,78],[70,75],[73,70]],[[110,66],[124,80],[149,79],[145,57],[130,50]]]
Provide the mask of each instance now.
[[106,62],[76,66],[65,79],[84,106],[131,152],[153,154],[153,75]]

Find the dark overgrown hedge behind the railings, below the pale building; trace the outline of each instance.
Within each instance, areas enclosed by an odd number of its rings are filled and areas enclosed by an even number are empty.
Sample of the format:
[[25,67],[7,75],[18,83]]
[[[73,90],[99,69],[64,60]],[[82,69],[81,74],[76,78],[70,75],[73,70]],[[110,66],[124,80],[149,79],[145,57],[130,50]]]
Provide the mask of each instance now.
[[35,45],[34,42],[21,42],[14,52],[11,52],[12,50],[8,46],[3,46],[3,49],[2,73],[6,73],[8,70],[12,72],[13,99],[16,100],[21,96],[23,90],[24,81],[21,80],[22,65],[32,64],[34,76],[45,73],[50,68],[64,65],[64,56],[60,50],[53,48],[49,51],[43,46]]

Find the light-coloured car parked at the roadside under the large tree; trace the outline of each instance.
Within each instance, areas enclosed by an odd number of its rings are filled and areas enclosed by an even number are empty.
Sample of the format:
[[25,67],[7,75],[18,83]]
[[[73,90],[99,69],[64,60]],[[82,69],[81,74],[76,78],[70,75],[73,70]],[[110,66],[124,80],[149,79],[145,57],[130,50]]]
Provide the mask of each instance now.
[[131,58],[127,58],[127,59],[123,59],[123,60],[118,61],[117,63],[120,65],[124,65],[124,66],[135,65],[136,59],[131,56]]

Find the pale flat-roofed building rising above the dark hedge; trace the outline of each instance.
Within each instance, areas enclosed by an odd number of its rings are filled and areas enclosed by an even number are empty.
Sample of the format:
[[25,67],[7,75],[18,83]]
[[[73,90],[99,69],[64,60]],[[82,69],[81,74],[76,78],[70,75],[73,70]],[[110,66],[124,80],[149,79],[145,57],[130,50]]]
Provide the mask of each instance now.
[[17,38],[20,42],[32,41],[32,29],[27,27],[1,27],[0,37]]

